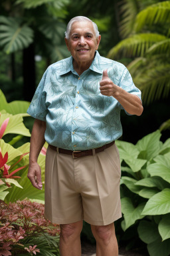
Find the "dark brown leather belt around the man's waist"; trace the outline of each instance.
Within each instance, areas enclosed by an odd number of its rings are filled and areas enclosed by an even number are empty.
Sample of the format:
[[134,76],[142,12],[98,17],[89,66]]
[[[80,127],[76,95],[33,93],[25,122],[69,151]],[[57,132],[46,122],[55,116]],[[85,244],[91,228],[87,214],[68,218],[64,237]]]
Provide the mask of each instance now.
[[[95,149],[95,153],[100,153],[104,151],[104,149],[108,149],[108,147],[111,147],[112,145],[114,145],[114,143],[115,141],[112,141],[111,143],[108,143],[102,147],[98,147],[97,149]],[[54,149],[55,151],[57,149],[55,146],[52,146],[52,145],[49,145],[49,147],[51,149]],[[87,157],[88,155],[93,155],[92,149],[83,150],[83,151],[72,151],[72,150],[58,148],[58,152],[66,155],[72,155],[73,158]]]

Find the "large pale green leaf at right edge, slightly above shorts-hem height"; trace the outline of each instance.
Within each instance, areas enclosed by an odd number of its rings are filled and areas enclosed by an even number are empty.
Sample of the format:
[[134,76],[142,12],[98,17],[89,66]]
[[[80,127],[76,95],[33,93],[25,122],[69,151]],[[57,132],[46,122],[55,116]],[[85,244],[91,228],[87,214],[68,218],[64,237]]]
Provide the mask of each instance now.
[[160,215],[170,213],[170,189],[153,195],[143,209],[142,215]]

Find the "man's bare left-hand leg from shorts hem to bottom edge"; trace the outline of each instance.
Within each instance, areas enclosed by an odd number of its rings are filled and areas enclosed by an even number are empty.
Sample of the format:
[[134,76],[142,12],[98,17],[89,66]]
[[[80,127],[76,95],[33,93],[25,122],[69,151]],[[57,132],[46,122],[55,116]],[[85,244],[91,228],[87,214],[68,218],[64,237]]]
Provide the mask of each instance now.
[[82,221],[60,225],[60,256],[81,256]]

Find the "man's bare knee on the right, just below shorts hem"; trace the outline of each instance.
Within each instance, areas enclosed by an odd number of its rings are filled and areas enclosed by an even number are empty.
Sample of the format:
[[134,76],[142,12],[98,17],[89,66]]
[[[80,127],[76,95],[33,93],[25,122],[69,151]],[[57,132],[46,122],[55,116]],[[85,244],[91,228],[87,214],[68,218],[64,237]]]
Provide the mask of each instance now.
[[100,241],[104,244],[110,243],[110,239],[114,238],[114,223],[106,226],[92,226],[92,233],[96,241]]

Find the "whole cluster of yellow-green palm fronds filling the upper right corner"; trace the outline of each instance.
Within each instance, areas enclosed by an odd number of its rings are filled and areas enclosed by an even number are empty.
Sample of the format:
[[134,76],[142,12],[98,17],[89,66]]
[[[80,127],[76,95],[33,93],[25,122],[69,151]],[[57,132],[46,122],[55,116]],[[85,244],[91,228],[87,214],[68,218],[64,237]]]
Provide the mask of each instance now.
[[[129,37],[113,47],[108,57],[132,59],[128,65],[129,72],[135,85],[142,91],[143,103],[148,104],[153,100],[168,97],[170,91],[170,3],[163,1],[149,6],[144,4],[143,9],[139,1],[125,2],[125,5],[131,6],[131,9],[126,11],[126,17],[123,17],[124,35]],[[138,6],[138,14],[135,5]]]

